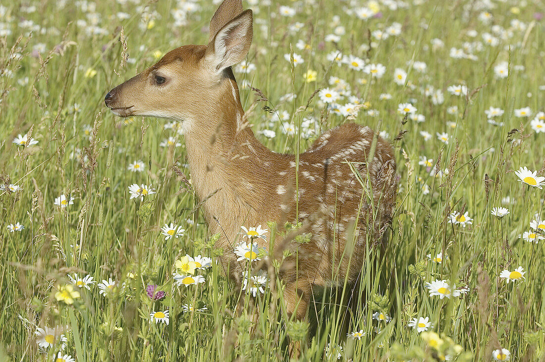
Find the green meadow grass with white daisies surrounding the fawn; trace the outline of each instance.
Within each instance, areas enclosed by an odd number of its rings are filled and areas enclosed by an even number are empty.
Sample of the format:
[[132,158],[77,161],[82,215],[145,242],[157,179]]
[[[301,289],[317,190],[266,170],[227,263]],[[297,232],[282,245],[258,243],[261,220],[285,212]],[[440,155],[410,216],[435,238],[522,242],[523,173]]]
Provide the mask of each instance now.
[[[249,293],[225,279],[215,261],[227,251],[207,231],[175,125],[120,119],[104,106],[108,90],[166,51],[205,44],[216,5],[0,6],[0,359],[53,360],[62,343],[40,348],[36,332],[44,327],[58,328],[57,342],[65,335],[66,361],[287,360],[288,334],[312,361],[543,359],[544,193],[514,173],[545,174],[543,3],[244,3],[254,10],[254,39],[246,70],[235,68],[235,76],[265,145],[303,151],[320,132],[352,120],[395,148],[399,194],[389,240],[370,243],[354,292],[315,291],[304,322],[286,318],[281,280],[269,280],[251,306]],[[379,39],[379,29],[393,33]],[[358,57],[360,69],[328,58],[337,51]],[[384,65],[384,75],[364,63]],[[453,85],[467,88],[455,95]],[[353,102],[356,112],[340,114],[318,89],[336,91],[337,103]],[[407,102],[425,121],[398,112]],[[490,107],[503,112],[487,116]],[[443,132],[447,142],[436,136]],[[26,145],[13,142],[18,134],[27,134]],[[181,145],[160,146],[168,137]],[[138,160],[141,171],[131,171]],[[134,183],[156,193],[130,198]],[[55,205],[61,194],[70,203]],[[499,206],[510,213],[493,216]],[[16,223],[23,229],[13,230]],[[170,223],[183,236],[165,240],[161,227]],[[273,224],[262,226],[271,240],[282,237]],[[175,283],[175,261],[186,254],[211,258],[194,272],[203,283]],[[518,267],[521,277],[512,273]],[[504,270],[516,280],[500,277]],[[98,283],[66,290],[74,273],[116,286],[104,295]],[[436,279],[450,294],[428,284]],[[166,297],[152,300],[148,285]],[[257,323],[235,313],[238,298],[261,310]],[[166,310],[169,323],[150,320]],[[419,317],[431,322],[427,334],[408,326]],[[360,330],[361,339],[347,336]],[[510,356],[493,352],[501,348]]]

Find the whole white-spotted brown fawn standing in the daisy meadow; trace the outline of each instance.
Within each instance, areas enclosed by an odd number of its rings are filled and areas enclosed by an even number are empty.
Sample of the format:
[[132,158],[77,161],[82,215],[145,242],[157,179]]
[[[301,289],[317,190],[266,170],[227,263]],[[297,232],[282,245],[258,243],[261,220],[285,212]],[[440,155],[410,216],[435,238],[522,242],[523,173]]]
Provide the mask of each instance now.
[[[321,134],[305,152],[269,150],[245,122],[232,66],[253,38],[252,10],[225,0],[209,25],[207,45],[184,45],[110,90],[113,114],[182,122],[191,184],[217,246],[221,266],[240,287],[245,266],[232,252],[241,225],[301,223],[305,243],[291,248],[296,267],[281,269],[289,318],[304,320],[315,286],[353,284],[373,244],[385,242],[395,210],[396,162],[391,145],[368,126],[346,122]],[[253,242],[269,249],[269,237]],[[293,237],[292,237],[293,239]],[[288,263],[289,265],[289,263]],[[290,355],[301,346],[290,343]]]

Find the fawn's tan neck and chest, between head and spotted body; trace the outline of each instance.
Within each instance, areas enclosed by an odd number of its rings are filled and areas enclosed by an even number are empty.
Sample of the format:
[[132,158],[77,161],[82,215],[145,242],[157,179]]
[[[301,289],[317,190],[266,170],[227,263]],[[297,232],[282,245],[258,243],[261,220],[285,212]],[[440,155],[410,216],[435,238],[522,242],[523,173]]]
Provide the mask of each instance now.
[[243,124],[237,83],[226,79],[217,94],[200,112],[201,118],[185,131],[187,158],[192,186],[213,232],[217,232],[217,219],[223,230],[238,231],[243,220],[233,216],[247,219],[249,213],[256,211],[252,210],[252,200],[267,192],[263,160],[274,153]]

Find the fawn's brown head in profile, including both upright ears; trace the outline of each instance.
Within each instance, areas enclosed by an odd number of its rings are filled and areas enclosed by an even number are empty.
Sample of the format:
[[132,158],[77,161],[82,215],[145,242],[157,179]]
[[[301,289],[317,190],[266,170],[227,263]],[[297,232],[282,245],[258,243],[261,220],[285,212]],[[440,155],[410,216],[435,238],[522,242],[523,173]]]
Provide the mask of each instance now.
[[104,98],[106,106],[122,117],[156,116],[183,120],[186,130],[215,129],[202,124],[210,121],[203,115],[216,113],[216,108],[228,111],[225,94],[240,105],[231,66],[246,57],[252,35],[252,10],[243,11],[240,0],[225,0],[210,21],[208,45],[185,45],[168,52],[110,90]]

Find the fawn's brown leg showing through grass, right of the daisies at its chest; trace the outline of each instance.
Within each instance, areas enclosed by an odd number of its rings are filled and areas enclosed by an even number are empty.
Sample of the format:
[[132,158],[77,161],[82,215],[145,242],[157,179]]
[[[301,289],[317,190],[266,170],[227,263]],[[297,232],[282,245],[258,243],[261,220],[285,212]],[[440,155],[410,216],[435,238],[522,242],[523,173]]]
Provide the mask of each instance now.
[[[286,312],[290,321],[306,319],[311,293],[311,283],[306,279],[297,279],[293,283],[286,285],[286,289],[284,289],[284,303],[286,303]],[[300,355],[301,341],[290,341],[290,358],[299,358]]]

